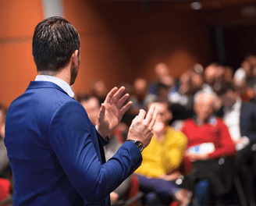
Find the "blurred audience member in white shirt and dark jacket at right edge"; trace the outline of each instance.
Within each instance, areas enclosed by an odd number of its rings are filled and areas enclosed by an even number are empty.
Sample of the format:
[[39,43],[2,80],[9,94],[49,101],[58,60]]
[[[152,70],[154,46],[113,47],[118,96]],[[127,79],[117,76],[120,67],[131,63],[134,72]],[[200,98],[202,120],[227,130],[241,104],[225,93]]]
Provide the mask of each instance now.
[[222,95],[223,119],[236,145],[236,172],[243,180],[248,205],[255,205],[253,165],[256,175],[256,105],[242,101],[232,84]]

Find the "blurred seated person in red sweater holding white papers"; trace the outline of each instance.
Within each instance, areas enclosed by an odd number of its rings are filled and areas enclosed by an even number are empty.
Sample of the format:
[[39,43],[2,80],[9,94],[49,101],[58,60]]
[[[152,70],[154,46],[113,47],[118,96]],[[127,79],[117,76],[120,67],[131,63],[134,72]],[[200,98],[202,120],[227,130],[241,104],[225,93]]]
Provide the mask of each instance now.
[[[186,155],[193,168],[190,179],[193,180],[194,194],[200,205],[208,204],[209,188],[218,198],[228,193],[233,183],[233,165],[229,158],[225,160],[222,157],[235,155],[236,148],[226,124],[213,115],[214,104],[214,94],[203,91],[197,93],[194,97],[196,115],[194,119],[185,120],[181,130],[187,136]],[[224,166],[226,172],[222,172]]]

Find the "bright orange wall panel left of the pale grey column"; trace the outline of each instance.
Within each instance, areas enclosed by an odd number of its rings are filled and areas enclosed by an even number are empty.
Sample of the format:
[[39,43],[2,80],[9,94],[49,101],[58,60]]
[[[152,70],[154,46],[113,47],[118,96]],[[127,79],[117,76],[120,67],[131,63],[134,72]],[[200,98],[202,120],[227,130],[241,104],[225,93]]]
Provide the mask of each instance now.
[[0,101],[5,106],[23,94],[37,74],[32,37],[41,20],[41,0],[0,0]]

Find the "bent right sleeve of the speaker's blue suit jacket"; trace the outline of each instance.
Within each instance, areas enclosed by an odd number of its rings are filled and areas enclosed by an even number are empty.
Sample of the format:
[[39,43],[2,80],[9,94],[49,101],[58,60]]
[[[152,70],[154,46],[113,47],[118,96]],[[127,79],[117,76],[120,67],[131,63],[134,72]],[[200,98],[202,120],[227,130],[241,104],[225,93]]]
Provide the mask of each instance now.
[[95,150],[95,126],[82,105],[69,101],[60,105],[49,128],[50,144],[70,182],[88,202],[107,197],[141,164],[139,149],[125,142],[105,164]]

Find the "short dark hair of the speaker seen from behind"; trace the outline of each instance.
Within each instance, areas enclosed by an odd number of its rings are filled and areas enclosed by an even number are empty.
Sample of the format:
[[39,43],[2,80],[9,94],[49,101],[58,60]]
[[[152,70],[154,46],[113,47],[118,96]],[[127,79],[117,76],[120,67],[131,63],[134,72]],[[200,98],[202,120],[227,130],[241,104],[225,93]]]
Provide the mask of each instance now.
[[37,72],[59,72],[68,64],[73,52],[80,50],[80,38],[71,23],[54,16],[37,24],[32,48]]

